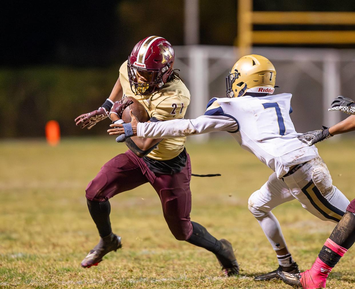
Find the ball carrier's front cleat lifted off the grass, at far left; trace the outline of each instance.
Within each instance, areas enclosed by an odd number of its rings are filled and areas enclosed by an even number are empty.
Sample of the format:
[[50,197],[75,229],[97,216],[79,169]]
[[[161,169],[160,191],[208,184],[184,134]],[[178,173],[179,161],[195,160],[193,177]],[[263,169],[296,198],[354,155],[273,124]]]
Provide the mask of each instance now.
[[111,233],[110,235],[101,238],[95,248],[90,250],[89,254],[81,262],[81,267],[90,268],[91,266],[97,266],[102,261],[103,256],[111,251],[116,251],[121,247],[121,237]]

